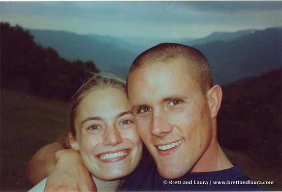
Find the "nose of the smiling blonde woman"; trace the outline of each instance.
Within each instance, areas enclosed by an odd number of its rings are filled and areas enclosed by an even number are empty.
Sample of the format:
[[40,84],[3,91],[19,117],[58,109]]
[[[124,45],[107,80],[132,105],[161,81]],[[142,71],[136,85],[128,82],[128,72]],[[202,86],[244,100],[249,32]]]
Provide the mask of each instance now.
[[104,139],[103,139],[103,145],[117,145],[119,143],[123,142],[123,138],[121,137],[121,133],[116,127],[108,127],[106,128]]

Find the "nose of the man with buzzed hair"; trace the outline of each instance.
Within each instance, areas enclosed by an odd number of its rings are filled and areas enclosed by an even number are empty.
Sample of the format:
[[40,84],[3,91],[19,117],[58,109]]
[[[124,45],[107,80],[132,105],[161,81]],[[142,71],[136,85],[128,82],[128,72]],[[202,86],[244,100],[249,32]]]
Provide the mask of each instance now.
[[164,136],[172,130],[172,126],[169,124],[169,117],[165,114],[153,114],[152,118],[152,133],[158,137]]

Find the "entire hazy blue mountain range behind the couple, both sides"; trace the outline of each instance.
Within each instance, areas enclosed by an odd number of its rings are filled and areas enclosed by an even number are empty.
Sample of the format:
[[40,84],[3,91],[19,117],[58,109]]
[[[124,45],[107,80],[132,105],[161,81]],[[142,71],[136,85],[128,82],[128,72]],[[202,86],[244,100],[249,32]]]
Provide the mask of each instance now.
[[[282,29],[215,32],[199,39],[146,39],[109,35],[79,35],[64,31],[28,30],[35,42],[52,47],[67,60],[93,61],[102,71],[124,78],[135,57],[160,42],[176,42],[202,51],[215,83],[226,85],[282,65]],[[153,44],[155,43],[155,44]]]

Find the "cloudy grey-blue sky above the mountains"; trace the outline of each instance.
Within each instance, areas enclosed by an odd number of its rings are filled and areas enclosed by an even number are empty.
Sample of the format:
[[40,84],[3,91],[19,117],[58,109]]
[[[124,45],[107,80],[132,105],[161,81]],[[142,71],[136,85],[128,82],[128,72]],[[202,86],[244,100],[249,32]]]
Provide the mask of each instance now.
[[282,27],[282,1],[0,2],[0,20],[79,34],[200,38],[212,32]]

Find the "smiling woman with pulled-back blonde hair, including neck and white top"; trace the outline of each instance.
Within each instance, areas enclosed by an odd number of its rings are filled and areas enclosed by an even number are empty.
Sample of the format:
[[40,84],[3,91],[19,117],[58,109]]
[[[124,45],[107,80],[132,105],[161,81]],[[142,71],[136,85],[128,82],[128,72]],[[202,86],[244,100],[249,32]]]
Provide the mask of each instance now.
[[[117,191],[142,156],[125,82],[96,74],[73,97],[69,145],[80,152],[97,191]],[[31,191],[43,191],[46,179]]]

